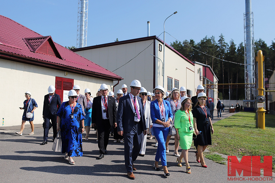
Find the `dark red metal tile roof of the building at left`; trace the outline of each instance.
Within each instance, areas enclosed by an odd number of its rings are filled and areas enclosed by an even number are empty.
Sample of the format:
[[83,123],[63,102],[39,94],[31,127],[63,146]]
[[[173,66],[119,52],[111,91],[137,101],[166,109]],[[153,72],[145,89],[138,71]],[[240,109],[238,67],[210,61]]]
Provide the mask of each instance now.
[[[41,48],[47,44],[54,53],[46,54]],[[24,27],[23,25],[0,15],[0,56],[5,59],[16,59],[16,61],[27,60],[28,63],[56,67],[58,70],[77,72],[83,75],[101,77],[109,80],[121,80],[122,78],[91,62],[88,59],[72,52],[71,50],[57,44],[51,43],[50,36],[43,37],[41,34]],[[39,48],[40,51],[39,51]],[[42,53],[43,52],[43,53]],[[59,58],[58,58],[59,57]]]

